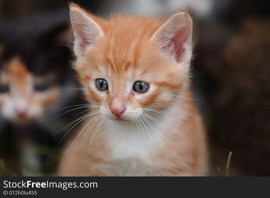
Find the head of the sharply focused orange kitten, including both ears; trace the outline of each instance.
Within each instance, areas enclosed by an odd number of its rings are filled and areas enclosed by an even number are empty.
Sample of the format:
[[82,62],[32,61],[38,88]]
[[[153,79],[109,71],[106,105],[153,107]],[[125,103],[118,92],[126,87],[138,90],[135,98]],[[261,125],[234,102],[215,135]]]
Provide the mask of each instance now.
[[105,21],[75,5],[70,9],[75,69],[87,100],[100,105],[104,117],[120,123],[140,119],[147,109],[166,108],[187,88],[192,24],[186,12],[164,23],[128,16]]

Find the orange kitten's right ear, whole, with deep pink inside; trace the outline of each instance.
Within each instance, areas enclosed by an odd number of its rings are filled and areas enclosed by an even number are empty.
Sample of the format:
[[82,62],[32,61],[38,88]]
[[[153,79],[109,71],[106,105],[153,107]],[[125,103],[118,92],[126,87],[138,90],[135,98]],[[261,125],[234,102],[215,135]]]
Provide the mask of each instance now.
[[192,20],[185,10],[177,11],[153,34],[151,41],[177,62],[189,62],[192,54]]

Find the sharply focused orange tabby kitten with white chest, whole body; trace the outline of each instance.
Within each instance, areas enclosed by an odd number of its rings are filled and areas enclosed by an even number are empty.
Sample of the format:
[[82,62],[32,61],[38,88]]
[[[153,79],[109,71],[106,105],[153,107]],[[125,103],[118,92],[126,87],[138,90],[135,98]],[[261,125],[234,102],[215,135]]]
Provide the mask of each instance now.
[[199,176],[206,141],[189,91],[192,21],[115,15],[70,5],[75,69],[93,106],[67,144],[61,176]]

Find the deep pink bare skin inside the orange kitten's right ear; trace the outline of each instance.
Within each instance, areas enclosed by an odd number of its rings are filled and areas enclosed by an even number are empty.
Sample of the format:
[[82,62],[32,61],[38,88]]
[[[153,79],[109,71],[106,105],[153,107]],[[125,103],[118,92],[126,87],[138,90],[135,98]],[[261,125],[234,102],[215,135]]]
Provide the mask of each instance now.
[[176,61],[180,62],[185,55],[184,44],[187,42],[187,31],[185,29],[178,30],[174,37],[164,47],[165,51],[175,55]]

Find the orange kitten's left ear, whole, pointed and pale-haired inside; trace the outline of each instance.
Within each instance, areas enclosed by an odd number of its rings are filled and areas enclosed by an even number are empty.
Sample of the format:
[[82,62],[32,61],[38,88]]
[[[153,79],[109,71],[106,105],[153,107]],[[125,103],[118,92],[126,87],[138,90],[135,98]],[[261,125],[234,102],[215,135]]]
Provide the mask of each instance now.
[[[101,38],[103,32],[98,24],[91,18],[85,10],[75,4],[69,6],[70,20],[73,29],[74,52],[77,56],[84,56],[91,45],[98,38]],[[94,18],[94,16],[92,16]]]

